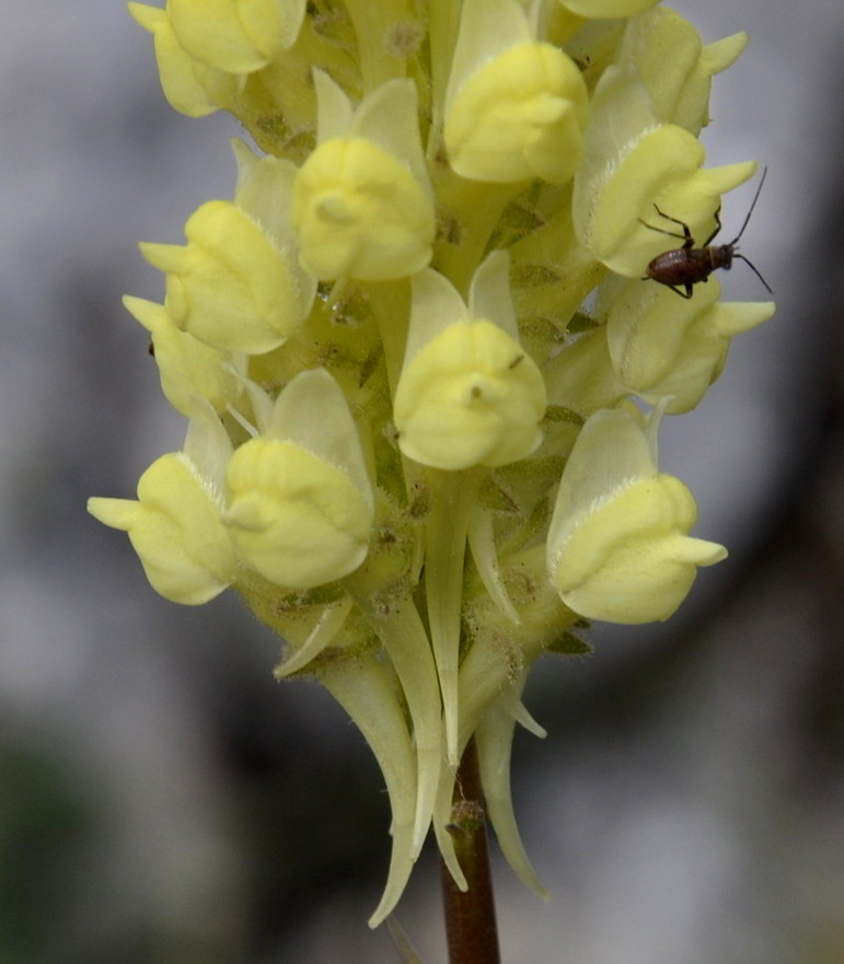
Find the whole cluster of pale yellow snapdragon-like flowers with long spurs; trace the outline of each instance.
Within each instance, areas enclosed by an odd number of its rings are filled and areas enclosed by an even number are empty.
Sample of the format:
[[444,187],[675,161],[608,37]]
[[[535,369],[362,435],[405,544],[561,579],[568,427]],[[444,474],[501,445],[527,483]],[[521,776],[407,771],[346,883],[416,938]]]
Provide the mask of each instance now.
[[[643,280],[712,232],[756,165],[705,169],[703,45],[655,0],[167,0],[129,4],[172,106],[231,112],[232,200],[143,244],[163,304],[126,298],[188,419],[137,500],[94,498],[152,586],[232,586],[382,768],[398,899],[454,769],[541,890],[509,789],[543,653],[586,619],[668,618],[726,550],[689,535],[657,430],[698,404],[773,304]],[[706,279],[702,279],[706,280]],[[637,404],[634,404],[637,403]],[[645,406],[649,407],[646,414]]]

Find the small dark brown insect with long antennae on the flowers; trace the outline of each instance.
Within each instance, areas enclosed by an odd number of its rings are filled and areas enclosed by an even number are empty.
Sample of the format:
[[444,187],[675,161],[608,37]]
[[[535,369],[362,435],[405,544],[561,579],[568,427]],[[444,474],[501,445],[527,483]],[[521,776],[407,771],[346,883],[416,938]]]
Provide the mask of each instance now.
[[[643,221],[641,218],[639,218],[639,221],[641,221],[646,228],[650,228],[651,231],[659,231],[660,234],[668,234],[669,237],[682,239],[683,246],[657,255],[646,269],[647,278],[650,278],[652,281],[658,281],[660,284],[664,284],[667,288],[675,291],[681,298],[691,298],[694,293],[694,286],[700,281],[708,281],[709,275],[712,275],[716,268],[729,269],[732,267],[733,258],[741,258],[742,262],[750,265],[759,280],[768,291],[771,291],[771,287],[762,275],[760,275],[756,266],[748,260],[744,255],[739,254],[737,247],[739,239],[748,227],[748,221],[750,221],[750,216],[753,213],[753,208],[756,206],[762,185],[765,183],[766,174],[767,167],[762,172],[762,179],[759,182],[759,187],[753,196],[753,202],[748,211],[748,217],[744,218],[744,223],[741,225],[741,231],[739,231],[729,244],[712,244],[715,235],[721,230],[720,205],[715,212],[715,231],[713,231],[706,241],[704,241],[701,247],[695,247],[694,237],[692,237],[692,232],[689,230],[689,225],[685,221],[681,221],[679,218],[672,218],[670,214],[661,211],[655,204],[654,207],[657,208],[657,213],[660,218],[664,218],[667,221],[673,221],[674,224],[679,224],[683,229],[683,233],[679,234],[677,231],[666,231],[664,228],[656,228],[654,224],[648,224],[647,221]],[[643,278],[643,281],[646,281],[647,278]],[[685,288],[685,293],[680,290],[681,288]]]

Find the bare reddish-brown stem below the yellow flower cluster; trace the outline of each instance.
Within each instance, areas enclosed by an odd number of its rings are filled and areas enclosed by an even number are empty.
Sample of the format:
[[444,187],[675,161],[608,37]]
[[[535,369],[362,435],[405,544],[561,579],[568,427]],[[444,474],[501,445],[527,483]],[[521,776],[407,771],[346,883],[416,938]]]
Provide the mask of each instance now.
[[486,810],[481,789],[475,741],[460,762],[449,826],[458,861],[469,890],[458,888],[440,861],[442,902],[450,964],[500,964],[498,927],[495,919],[493,878],[486,836]]

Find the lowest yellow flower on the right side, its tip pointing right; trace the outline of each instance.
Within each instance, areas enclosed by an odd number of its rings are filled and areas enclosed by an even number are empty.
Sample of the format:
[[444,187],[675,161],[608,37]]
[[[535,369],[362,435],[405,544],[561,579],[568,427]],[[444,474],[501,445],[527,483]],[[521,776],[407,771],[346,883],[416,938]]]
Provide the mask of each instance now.
[[563,602],[610,623],[667,619],[697,566],[724,559],[717,543],[687,535],[692,493],[656,465],[658,416],[624,410],[589,418],[563,472],[548,529],[547,566]]

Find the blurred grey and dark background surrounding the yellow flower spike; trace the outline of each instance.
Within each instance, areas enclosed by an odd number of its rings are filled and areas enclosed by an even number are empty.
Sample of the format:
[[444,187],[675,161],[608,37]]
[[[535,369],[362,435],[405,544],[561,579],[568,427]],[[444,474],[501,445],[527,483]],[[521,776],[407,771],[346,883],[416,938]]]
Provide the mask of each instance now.
[[[496,864],[504,960],[836,964],[844,946],[844,7],[675,0],[716,79],[709,164],[770,173],[742,239],[776,316],[736,339],[663,467],[730,559],[669,626],[543,662],[513,779],[545,905]],[[226,595],[178,607],[84,513],[184,425],[124,292],[136,242],[230,197],[239,133],[164,103],[118,0],[3,0],[0,961],[389,964],[389,814],[357,731]],[[753,185],[728,198],[726,236]],[[726,297],[764,300],[738,263]],[[400,918],[444,961],[436,861]]]

